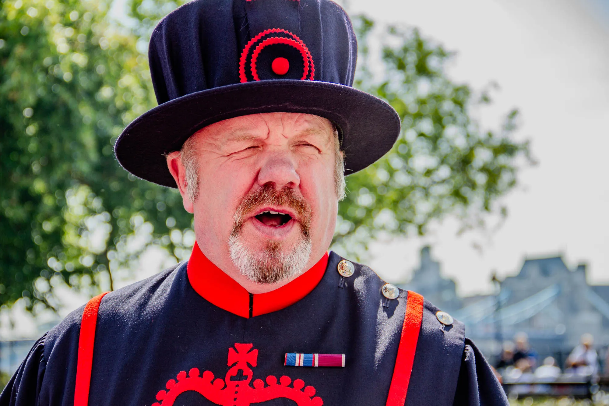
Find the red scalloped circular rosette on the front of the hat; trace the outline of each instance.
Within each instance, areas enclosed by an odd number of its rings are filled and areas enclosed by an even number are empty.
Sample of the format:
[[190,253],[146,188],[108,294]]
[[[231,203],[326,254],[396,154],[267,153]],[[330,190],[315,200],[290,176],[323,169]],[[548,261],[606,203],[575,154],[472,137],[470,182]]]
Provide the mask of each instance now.
[[[281,28],[272,28],[264,30],[253,37],[243,48],[241,58],[239,59],[239,79],[241,80],[241,83],[261,80],[261,77],[259,77],[258,74],[259,69],[257,66],[259,55],[263,50],[273,51],[272,47],[277,45],[289,46],[290,48],[295,49],[295,52],[297,52],[296,55],[300,54],[300,57],[298,57],[298,59],[301,58],[299,63],[294,63],[293,66],[291,63],[288,64],[289,69],[295,69],[294,74],[297,74],[299,79],[314,80],[315,65],[313,63],[311,52],[309,51],[309,48],[306,47],[305,43],[298,38],[297,35],[294,35],[287,30]],[[282,54],[282,52],[285,52],[285,49],[275,49],[275,52],[276,55],[270,62],[277,59],[277,57],[287,58],[290,56],[288,55],[289,52],[287,52],[287,54]],[[279,74],[279,76],[283,76],[286,73],[287,71],[283,74]],[[277,78],[267,77],[264,79]]]

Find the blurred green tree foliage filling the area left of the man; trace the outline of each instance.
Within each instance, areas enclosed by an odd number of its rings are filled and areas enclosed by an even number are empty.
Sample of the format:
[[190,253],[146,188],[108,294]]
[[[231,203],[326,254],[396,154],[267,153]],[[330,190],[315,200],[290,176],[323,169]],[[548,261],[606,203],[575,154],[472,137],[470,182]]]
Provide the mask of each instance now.
[[108,270],[137,254],[125,249],[136,231],[174,251],[168,233],[190,224],[176,193],[114,160],[116,137],[154,95],[138,38],[108,21],[109,5],[2,2],[0,303],[54,307],[60,280],[111,283]]

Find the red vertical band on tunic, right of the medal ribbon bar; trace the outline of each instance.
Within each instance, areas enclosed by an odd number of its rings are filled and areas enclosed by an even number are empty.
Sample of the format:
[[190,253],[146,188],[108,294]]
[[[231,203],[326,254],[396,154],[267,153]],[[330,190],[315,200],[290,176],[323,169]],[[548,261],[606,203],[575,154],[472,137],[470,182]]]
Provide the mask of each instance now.
[[389,386],[387,406],[404,406],[404,402],[406,402],[406,393],[408,392],[412,364],[415,360],[415,351],[417,351],[421,321],[423,321],[423,296],[408,291],[404,325],[402,326],[398,355],[395,358],[391,386]]

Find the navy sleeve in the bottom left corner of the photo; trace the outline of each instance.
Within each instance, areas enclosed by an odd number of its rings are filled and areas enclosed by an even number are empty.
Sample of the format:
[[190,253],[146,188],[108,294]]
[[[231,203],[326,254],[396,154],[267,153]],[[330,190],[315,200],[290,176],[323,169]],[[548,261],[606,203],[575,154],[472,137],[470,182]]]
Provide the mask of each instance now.
[[30,406],[38,404],[41,384],[46,369],[44,360],[45,333],[34,345],[9,383],[0,394],[0,406]]

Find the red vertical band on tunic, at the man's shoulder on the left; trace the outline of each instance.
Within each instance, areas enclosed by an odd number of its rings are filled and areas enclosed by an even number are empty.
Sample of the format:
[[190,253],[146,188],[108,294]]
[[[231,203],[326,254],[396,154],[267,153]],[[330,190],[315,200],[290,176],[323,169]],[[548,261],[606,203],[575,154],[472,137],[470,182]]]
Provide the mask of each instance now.
[[91,385],[91,367],[93,366],[93,344],[95,342],[95,326],[97,310],[102,297],[108,293],[98,294],[87,302],[80,322],[78,340],[78,364],[76,366],[76,388],[74,390],[74,406],[87,406],[89,403],[89,387]]

